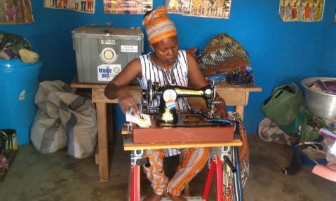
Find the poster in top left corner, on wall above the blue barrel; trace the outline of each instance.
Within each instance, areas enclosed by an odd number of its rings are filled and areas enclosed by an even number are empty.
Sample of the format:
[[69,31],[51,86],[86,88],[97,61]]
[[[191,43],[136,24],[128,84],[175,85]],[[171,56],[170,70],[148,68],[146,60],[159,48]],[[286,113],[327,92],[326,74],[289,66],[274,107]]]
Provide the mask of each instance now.
[[0,24],[34,22],[30,0],[0,0]]

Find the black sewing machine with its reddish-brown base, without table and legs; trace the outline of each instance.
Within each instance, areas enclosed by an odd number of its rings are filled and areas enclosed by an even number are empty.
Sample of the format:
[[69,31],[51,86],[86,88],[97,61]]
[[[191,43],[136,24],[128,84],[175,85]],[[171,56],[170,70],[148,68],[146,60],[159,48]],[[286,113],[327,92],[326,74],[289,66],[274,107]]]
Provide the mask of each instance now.
[[[203,97],[209,114],[175,109],[175,100],[180,97]],[[160,99],[157,106],[153,105],[155,98]],[[133,127],[132,123],[128,123],[128,131],[133,133],[134,143],[231,141],[234,139],[234,123],[212,119],[214,106],[218,103],[215,100],[215,85],[201,89],[177,85],[161,87],[149,80],[147,90],[140,98],[140,116],[133,121],[130,113],[126,112],[126,121],[137,124]],[[142,127],[145,123],[147,126]]]

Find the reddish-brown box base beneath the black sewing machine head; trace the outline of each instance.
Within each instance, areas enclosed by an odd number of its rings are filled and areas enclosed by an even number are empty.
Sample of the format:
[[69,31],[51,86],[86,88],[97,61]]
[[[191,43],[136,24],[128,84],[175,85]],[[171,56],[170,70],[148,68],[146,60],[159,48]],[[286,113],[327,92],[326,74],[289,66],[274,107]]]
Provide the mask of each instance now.
[[165,127],[134,127],[133,143],[213,142],[232,141],[234,126],[212,123],[198,114],[183,114],[176,124]]

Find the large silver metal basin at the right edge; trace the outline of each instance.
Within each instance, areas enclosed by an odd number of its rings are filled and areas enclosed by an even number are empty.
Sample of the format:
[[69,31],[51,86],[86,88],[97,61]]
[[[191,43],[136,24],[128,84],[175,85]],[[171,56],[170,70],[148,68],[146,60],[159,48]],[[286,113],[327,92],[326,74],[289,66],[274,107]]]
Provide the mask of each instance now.
[[321,81],[336,80],[336,78],[327,77],[303,79],[301,84],[304,87],[304,99],[306,100],[307,109],[318,117],[325,120],[332,120],[336,118],[336,95],[311,90],[309,86],[318,79]]

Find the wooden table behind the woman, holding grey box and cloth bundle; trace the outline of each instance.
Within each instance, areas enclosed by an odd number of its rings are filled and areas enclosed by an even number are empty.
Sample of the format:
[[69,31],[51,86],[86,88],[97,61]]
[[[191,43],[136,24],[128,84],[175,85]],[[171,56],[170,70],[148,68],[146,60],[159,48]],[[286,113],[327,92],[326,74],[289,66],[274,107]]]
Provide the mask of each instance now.
[[[75,78],[70,86],[72,88],[88,88],[91,90],[91,98],[97,109],[99,179],[101,182],[107,182],[109,181],[107,104],[118,103],[118,101],[105,97],[104,90],[106,84],[79,83],[78,79]],[[217,83],[216,86],[217,93],[225,99],[227,106],[234,106],[234,111],[240,113],[241,118],[243,118],[244,106],[248,104],[249,93],[262,91],[262,88],[257,85],[229,85],[227,83]],[[141,90],[138,85],[130,85],[127,90],[135,97],[135,100],[138,100],[141,96]],[[109,125],[112,125],[112,123]]]

